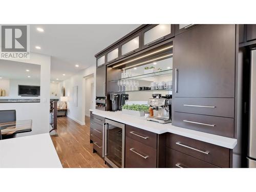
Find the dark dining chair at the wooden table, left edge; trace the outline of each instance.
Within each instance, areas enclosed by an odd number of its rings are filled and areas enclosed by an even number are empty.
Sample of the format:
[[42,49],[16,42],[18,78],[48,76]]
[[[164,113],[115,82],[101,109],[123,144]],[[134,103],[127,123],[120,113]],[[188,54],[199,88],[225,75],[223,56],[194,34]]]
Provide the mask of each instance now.
[[[0,123],[13,122],[13,121],[16,121],[16,110],[2,110],[2,111],[0,111]],[[0,134],[1,134],[1,131],[0,131]],[[2,139],[13,138],[13,137],[15,137],[15,135],[16,134],[2,135]],[[0,139],[1,139],[1,135],[0,135]]]

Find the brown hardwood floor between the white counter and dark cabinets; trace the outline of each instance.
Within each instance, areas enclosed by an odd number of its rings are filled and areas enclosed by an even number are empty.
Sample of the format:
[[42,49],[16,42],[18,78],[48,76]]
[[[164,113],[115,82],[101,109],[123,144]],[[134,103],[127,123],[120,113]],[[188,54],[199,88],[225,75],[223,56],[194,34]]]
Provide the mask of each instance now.
[[86,125],[80,125],[68,117],[58,117],[57,135],[51,138],[64,168],[108,167],[100,156],[93,153],[89,117],[86,117]]

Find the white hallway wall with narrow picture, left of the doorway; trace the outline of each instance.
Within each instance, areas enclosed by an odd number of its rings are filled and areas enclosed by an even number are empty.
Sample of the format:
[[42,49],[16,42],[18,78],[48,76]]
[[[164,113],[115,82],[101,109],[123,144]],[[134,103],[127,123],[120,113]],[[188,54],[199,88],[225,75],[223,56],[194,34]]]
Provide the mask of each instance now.
[[[59,83],[59,90],[63,86],[66,91],[66,96],[68,97],[68,117],[80,123],[81,125],[85,124],[84,120],[86,116],[86,92],[91,92],[90,89],[86,90],[86,79],[84,77],[90,74],[96,74],[95,66],[84,69],[79,73],[73,75],[69,79]],[[94,84],[96,84],[95,78]],[[72,91],[74,86],[78,86],[78,106],[74,106],[73,104]],[[96,89],[94,86],[94,95],[95,93]]]

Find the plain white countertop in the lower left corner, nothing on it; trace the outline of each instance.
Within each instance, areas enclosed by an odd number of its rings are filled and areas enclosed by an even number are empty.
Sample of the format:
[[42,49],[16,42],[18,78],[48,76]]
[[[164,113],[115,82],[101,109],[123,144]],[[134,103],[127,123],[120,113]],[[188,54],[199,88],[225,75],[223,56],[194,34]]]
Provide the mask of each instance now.
[[62,168],[49,133],[0,140],[0,167]]

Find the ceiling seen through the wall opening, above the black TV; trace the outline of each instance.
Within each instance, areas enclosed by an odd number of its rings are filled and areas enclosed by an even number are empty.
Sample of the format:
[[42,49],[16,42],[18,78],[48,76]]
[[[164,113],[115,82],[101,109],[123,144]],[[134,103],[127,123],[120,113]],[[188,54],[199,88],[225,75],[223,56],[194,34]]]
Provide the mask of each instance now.
[[[3,79],[20,79],[40,82],[40,69],[40,65],[0,59],[0,77]],[[29,70],[29,72],[26,70]]]

